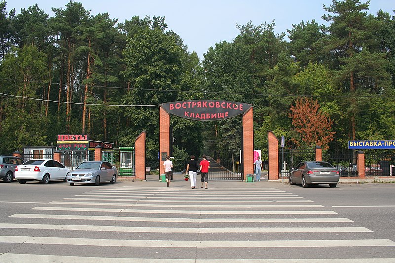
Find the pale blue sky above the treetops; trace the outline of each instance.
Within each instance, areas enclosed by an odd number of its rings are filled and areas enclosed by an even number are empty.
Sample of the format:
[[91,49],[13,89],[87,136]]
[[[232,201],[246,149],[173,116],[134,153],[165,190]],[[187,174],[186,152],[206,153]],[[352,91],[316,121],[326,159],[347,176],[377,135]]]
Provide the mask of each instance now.
[[[65,8],[69,0],[5,0],[7,11],[38,4],[50,17],[51,8]],[[330,6],[332,0],[75,0],[81,2],[91,15],[109,13],[118,22],[130,20],[133,16],[143,18],[148,15],[164,16],[168,29],[177,33],[200,59],[216,43],[232,42],[239,34],[236,24],[245,25],[249,21],[258,26],[275,21],[275,33],[286,33],[292,25],[316,20],[327,24],[321,17],[326,12],[323,4]],[[365,3],[366,0],[361,0]],[[394,15],[394,0],[370,0],[368,13],[376,14],[382,9]],[[286,37],[285,40],[288,40]]]

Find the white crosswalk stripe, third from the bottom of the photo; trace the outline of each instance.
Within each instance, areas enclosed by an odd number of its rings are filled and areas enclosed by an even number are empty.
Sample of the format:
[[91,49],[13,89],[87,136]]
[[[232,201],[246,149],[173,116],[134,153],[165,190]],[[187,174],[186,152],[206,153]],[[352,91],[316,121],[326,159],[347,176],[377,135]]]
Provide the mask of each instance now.
[[138,232],[138,233],[367,233],[365,227],[131,227],[108,225],[53,225],[0,223],[0,228],[75,230],[99,232]]

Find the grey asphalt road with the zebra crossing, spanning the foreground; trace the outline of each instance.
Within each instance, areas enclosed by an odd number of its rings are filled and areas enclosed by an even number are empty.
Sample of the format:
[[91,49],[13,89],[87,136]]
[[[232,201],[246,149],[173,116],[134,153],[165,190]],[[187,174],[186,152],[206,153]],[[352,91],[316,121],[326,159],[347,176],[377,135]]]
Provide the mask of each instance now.
[[395,262],[395,184],[174,179],[0,182],[0,262]]

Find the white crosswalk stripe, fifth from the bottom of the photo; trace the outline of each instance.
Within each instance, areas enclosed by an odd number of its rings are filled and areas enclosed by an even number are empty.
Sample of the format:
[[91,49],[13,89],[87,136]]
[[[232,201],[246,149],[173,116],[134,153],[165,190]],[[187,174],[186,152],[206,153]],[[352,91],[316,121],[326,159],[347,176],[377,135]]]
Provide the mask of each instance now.
[[149,214],[238,214],[238,215],[323,215],[323,214],[337,214],[335,211],[311,211],[311,210],[292,210],[292,211],[218,211],[218,210],[140,210],[140,209],[116,209],[116,208],[88,208],[88,207],[46,207],[37,206],[31,208],[32,210],[54,210],[54,211],[85,211],[85,212],[118,212],[118,213],[149,213]]

